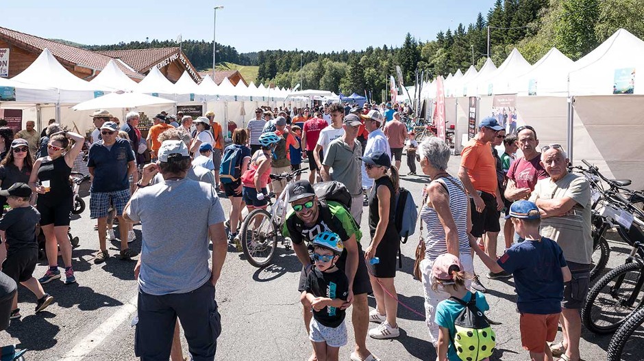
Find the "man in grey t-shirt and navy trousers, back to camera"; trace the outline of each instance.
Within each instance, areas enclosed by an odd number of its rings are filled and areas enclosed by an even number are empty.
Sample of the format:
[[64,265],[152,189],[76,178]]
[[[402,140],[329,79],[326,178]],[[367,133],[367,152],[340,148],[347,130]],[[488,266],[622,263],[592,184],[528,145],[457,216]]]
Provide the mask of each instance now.
[[[225,215],[210,185],[186,178],[190,156],[184,142],[163,142],[158,160],[143,168],[124,211],[129,221],[141,222],[143,231],[134,267],[139,283],[135,353],[141,360],[168,360],[178,317],[193,359],[214,360],[221,333],[214,286],[226,256]],[[164,181],[149,185],[157,172]],[[179,220],[177,214],[190,217]]]

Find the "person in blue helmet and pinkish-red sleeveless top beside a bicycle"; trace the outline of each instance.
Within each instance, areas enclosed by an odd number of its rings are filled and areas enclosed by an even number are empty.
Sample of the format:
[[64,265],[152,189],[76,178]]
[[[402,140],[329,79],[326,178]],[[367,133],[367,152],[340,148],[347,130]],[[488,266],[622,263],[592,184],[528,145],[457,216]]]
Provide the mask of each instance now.
[[267,191],[267,184],[271,176],[271,159],[275,144],[280,142],[280,137],[275,133],[268,132],[260,135],[258,142],[260,150],[257,150],[248,165],[248,170],[242,175],[242,198],[248,207],[248,211],[255,208],[264,209],[268,200],[264,198]]

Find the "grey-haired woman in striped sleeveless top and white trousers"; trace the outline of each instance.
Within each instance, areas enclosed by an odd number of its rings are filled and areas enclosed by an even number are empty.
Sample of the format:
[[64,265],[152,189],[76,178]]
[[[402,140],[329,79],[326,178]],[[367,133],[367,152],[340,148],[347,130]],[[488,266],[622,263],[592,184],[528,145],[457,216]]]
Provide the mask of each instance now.
[[[423,190],[421,219],[425,222],[425,259],[420,264],[425,293],[425,316],[434,347],[438,342],[438,325],[434,322],[436,305],[449,298],[449,293],[432,290],[432,265],[441,254],[450,253],[460,258],[463,270],[473,274],[469,230],[471,219],[469,201],[458,177],[447,173],[449,146],[438,137],[425,139],[419,149],[423,173],[432,182]],[[426,197],[425,197],[426,196]],[[471,280],[465,282],[469,289]]]

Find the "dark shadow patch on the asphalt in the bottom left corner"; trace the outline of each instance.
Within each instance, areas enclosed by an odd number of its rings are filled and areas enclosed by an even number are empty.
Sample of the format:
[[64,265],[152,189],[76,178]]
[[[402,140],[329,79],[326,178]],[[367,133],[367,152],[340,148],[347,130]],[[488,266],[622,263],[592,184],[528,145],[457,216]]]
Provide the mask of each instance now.
[[[51,349],[56,345],[55,336],[60,331],[60,327],[52,325],[47,319],[54,315],[47,311],[42,311],[38,315],[30,315],[23,319],[11,321],[11,325],[6,330],[12,338],[18,338],[19,349],[42,351]],[[37,334],[37,336],[36,336]],[[26,354],[29,358],[29,352]]]

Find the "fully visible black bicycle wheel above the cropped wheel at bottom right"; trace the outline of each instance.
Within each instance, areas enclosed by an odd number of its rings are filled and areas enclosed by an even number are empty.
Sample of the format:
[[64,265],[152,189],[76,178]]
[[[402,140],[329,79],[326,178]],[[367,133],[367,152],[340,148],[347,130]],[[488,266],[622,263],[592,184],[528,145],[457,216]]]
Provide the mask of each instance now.
[[599,278],[586,297],[582,322],[591,332],[608,334],[642,303],[642,268],[626,263]]

